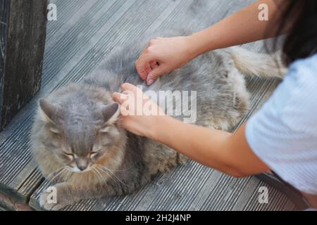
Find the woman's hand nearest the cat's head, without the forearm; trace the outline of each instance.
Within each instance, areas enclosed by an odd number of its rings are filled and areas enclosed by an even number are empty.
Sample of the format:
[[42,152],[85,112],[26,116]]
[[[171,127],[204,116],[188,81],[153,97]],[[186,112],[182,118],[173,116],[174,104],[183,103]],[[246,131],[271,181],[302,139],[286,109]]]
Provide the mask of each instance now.
[[121,90],[122,94],[113,94],[113,100],[120,104],[123,127],[133,134],[154,139],[158,117],[167,117],[163,110],[137,86],[123,84]]

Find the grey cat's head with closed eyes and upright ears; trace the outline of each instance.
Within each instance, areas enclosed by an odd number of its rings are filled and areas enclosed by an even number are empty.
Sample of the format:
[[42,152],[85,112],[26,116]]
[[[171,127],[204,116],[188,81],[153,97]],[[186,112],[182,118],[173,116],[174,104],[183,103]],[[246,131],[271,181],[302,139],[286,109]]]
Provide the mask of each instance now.
[[[39,120],[44,122],[42,143],[56,161],[71,172],[89,172],[106,163],[120,141],[118,103],[68,103],[58,105],[39,102]],[[115,149],[116,150],[116,149]]]

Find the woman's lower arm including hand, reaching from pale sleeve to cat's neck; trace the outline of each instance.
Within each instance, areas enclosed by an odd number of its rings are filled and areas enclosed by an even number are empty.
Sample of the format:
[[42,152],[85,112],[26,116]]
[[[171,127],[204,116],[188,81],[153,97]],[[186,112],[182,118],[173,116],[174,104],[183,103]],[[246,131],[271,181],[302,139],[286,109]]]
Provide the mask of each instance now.
[[158,106],[132,84],[123,84],[121,89],[123,94],[115,93],[113,99],[121,104],[121,122],[128,131],[159,141],[201,164],[232,176],[248,176],[269,170],[249,148],[245,126],[230,134],[184,124],[159,111],[149,116],[127,113],[128,110],[135,109],[135,105],[139,108],[147,105],[147,108],[152,109],[157,109]]

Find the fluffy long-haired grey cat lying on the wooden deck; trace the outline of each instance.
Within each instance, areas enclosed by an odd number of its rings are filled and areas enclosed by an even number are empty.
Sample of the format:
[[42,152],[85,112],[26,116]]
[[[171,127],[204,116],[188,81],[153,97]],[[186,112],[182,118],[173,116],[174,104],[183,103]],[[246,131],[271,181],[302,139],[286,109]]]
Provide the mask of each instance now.
[[[185,156],[120,126],[119,106],[111,94],[120,91],[121,84],[141,85],[144,91],[197,91],[195,123],[229,131],[248,110],[249,94],[242,73],[263,77],[285,73],[278,70],[271,56],[235,47],[199,56],[147,86],[135,70],[135,60],[147,41],[149,38],[119,47],[82,82],[65,86],[39,102],[32,153],[57,190],[56,203],[48,203],[49,193],[42,193],[44,209],[59,210],[82,199],[130,194],[155,174],[186,162]],[[175,117],[182,120],[184,116]]]

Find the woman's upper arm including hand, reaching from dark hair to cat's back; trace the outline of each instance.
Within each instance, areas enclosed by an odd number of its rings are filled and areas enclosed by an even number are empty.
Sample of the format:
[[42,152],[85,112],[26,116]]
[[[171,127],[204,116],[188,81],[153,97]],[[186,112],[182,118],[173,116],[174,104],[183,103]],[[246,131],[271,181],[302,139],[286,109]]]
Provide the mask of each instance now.
[[[278,5],[285,0],[261,0],[242,9],[228,18],[216,23],[206,30],[189,37],[156,38],[149,41],[137,60],[136,68],[142,79],[151,85],[160,76],[181,68],[189,60],[206,51],[228,46],[266,39],[275,35],[276,13],[280,13]],[[268,6],[269,20],[259,20],[259,5]],[[268,33],[268,31],[272,31]],[[285,31],[286,32],[286,31]],[[175,57],[176,56],[176,57]]]

